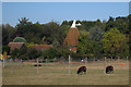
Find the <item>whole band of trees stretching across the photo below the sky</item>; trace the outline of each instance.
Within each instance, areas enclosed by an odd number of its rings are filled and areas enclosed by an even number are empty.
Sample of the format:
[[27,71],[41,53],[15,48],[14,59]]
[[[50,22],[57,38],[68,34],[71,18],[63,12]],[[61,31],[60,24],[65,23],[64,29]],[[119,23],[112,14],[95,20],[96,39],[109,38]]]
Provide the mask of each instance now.
[[[10,54],[8,44],[13,41],[15,37],[23,37],[27,47],[32,45],[52,45],[52,48],[45,51],[35,49],[22,50],[15,49],[12,57],[35,59],[44,57],[52,58],[72,58],[81,57],[129,57],[129,35],[130,35],[130,17],[128,16],[109,16],[108,21],[76,21],[81,23],[79,26],[80,38],[76,47],[76,53],[69,50],[68,46],[63,45],[66,36],[73,21],[63,21],[62,24],[49,22],[40,24],[32,23],[28,18],[22,17],[19,24],[12,27],[9,24],[2,25],[2,50]],[[36,52],[37,51],[37,52]],[[16,53],[17,52],[17,53]],[[35,55],[33,55],[35,53]],[[37,54],[36,54],[37,53]]]

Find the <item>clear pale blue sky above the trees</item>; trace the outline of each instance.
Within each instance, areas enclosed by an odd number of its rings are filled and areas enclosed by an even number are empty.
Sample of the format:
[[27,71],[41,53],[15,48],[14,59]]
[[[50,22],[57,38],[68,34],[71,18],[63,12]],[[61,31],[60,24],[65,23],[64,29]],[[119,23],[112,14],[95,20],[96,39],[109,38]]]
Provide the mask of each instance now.
[[80,20],[108,21],[109,16],[127,16],[129,2],[2,2],[2,23],[15,26],[19,18],[33,23]]

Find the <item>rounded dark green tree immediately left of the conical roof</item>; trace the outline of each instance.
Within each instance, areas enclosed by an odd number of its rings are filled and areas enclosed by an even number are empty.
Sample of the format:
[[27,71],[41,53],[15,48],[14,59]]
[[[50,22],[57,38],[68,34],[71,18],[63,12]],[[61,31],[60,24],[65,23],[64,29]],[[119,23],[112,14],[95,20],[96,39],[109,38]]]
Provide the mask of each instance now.
[[62,28],[57,23],[50,22],[44,25],[43,37],[45,37],[45,41],[47,41],[47,44],[50,45],[55,39],[57,39],[59,44],[62,45],[64,39],[63,36],[64,32],[62,32]]

